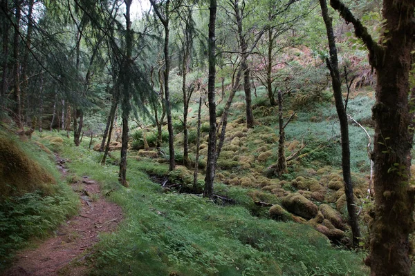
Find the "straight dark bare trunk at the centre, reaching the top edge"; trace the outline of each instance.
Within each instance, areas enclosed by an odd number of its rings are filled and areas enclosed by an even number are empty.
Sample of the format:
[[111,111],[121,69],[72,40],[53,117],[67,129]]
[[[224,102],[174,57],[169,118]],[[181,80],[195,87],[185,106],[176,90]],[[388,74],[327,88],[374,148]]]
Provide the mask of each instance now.
[[215,48],[215,23],[216,23],[216,0],[210,0],[209,16],[209,79],[208,79],[208,101],[209,101],[209,142],[208,142],[208,164],[206,167],[205,190],[203,197],[212,197],[214,172],[216,168],[216,104],[214,102],[214,81],[216,77],[216,48]]

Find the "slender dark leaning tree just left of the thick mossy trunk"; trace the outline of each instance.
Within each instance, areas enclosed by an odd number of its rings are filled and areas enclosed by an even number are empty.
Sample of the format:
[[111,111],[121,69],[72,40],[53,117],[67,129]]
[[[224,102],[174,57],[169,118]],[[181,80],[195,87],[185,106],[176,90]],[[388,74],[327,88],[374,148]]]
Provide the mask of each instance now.
[[342,97],[342,79],[340,77],[338,65],[338,51],[335,46],[335,37],[333,33],[332,19],[329,16],[326,0],[320,0],[320,7],[324,24],[327,30],[327,39],[329,40],[330,59],[326,59],[327,67],[330,70],[331,85],[333,87],[333,96],[335,109],[337,110],[340,121],[340,135],[342,137],[342,172],[344,181],[344,193],[346,194],[347,212],[349,213],[349,224],[353,235],[353,246],[358,246],[360,230],[358,223],[358,214],[356,212],[356,203],[353,196],[353,184],[351,182],[350,171],[350,142],[349,142],[349,124],[347,121],[347,110],[343,104]]

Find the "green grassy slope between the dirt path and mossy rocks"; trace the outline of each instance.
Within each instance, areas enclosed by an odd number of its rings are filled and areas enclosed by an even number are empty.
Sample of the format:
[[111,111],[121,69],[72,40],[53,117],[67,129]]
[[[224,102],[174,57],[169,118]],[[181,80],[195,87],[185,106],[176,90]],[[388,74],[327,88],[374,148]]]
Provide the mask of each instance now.
[[[122,206],[117,233],[103,235],[91,257],[93,275],[365,275],[362,257],[331,247],[309,226],[252,217],[241,206],[219,206],[194,195],[163,193],[143,171],[167,167],[129,159],[130,188],[117,184],[117,166],[73,148],[62,154],[77,175],[100,181]],[[82,146],[86,146],[84,141]]]

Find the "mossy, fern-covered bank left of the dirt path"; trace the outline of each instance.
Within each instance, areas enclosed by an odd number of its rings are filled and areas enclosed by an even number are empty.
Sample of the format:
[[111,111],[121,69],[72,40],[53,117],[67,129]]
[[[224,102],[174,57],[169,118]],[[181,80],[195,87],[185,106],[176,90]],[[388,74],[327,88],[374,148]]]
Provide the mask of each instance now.
[[[50,230],[57,228],[67,216],[75,215],[78,200],[71,187],[60,179],[54,156],[47,148],[33,140],[20,141],[14,134],[3,130],[0,130],[0,137],[1,141],[12,145],[11,149],[19,148],[14,154],[21,155],[2,161],[24,160],[25,163],[18,163],[17,170],[12,170],[13,173],[6,177],[6,182],[15,177],[20,182],[18,189],[15,188],[12,195],[0,199],[1,271],[14,256],[15,250],[32,244],[33,241],[28,242],[31,238],[47,237]],[[2,170],[6,170],[6,167],[2,167]],[[21,171],[23,169],[27,171]],[[39,175],[47,175],[42,179],[53,179],[53,183],[33,179]],[[5,180],[0,181],[0,185],[7,185]]]

